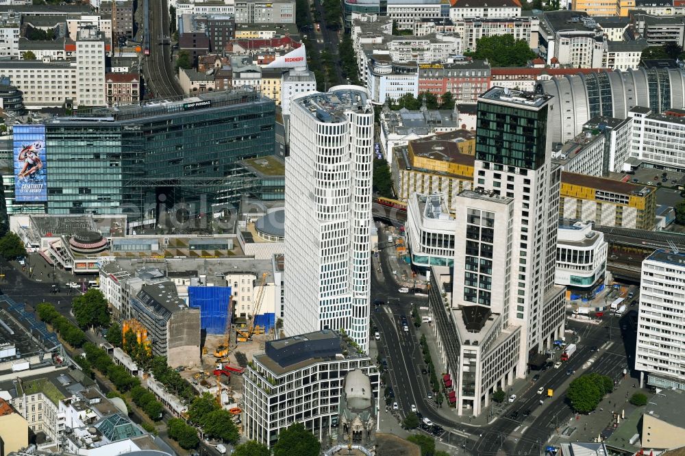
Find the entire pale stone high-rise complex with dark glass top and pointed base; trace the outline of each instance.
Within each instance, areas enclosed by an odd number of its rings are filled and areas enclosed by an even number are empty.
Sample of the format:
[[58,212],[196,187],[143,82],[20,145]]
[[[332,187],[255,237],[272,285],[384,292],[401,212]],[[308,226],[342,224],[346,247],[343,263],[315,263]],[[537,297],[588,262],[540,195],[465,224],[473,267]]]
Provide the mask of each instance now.
[[481,413],[564,334],[565,288],[553,283],[561,169],[548,153],[550,99],[503,88],[478,99],[475,190],[455,205],[451,301],[437,268],[429,296],[460,414]]

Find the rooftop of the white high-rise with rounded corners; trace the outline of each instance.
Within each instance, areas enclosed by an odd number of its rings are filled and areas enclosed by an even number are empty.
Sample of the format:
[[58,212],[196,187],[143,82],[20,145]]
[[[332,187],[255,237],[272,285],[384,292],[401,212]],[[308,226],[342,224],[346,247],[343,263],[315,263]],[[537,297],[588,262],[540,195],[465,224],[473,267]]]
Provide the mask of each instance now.
[[[367,109],[366,90],[343,88],[325,93],[314,93],[297,99],[295,104],[303,107],[319,122],[343,123],[347,120],[346,111],[365,111]],[[370,107],[369,107],[370,109]]]

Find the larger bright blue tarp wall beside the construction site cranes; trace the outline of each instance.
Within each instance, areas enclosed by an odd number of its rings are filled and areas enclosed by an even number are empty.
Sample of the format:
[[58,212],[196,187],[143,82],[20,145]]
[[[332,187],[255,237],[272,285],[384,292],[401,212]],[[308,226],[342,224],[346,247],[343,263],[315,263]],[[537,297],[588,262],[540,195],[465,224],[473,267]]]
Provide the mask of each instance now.
[[231,287],[188,287],[188,305],[200,309],[200,327],[208,334],[226,331],[230,300]]

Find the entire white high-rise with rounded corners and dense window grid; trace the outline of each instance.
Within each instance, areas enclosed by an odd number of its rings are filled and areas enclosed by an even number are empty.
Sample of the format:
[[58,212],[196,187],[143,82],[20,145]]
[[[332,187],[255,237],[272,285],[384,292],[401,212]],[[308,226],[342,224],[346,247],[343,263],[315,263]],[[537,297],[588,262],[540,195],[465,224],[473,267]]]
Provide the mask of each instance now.
[[292,101],[286,157],[288,335],[344,329],[369,349],[373,108],[336,86]]

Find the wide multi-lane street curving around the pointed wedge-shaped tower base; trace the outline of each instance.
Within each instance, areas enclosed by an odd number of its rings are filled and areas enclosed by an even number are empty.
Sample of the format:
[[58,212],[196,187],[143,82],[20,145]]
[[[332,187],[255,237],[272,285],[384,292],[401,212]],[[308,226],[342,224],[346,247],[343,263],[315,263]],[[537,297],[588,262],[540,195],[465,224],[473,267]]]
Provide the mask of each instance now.
[[[504,403],[499,410],[496,405],[490,407],[488,413],[497,418],[494,421],[490,419],[490,424],[476,425],[477,421],[483,421],[482,417],[473,420],[472,424],[468,416],[456,416],[446,405],[438,411],[434,401],[427,398],[429,377],[421,374],[425,364],[418,341],[420,333],[417,334],[413,326],[409,331],[403,331],[401,326],[401,315],[410,319],[412,303],[425,307],[427,297],[398,292],[397,281],[391,270],[393,266],[390,266],[394,249],[384,248],[385,237],[385,231],[379,230],[380,256],[379,262],[374,259],[374,266],[376,268],[379,264],[381,271],[372,274],[371,300],[377,299],[386,304],[372,305],[371,321],[380,333],[381,339],[376,345],[380,356],[385,357],[388,362],[388,381],[395,391],[393,401],[397,401],[399,405],[400,418],[406,416],[414,404],[423,416],[446,429],[441,436],[443,439],[453,437],[448,431],[456,429],[457,435],[464,438],[466,451],[473,455],[497,455],[500,451],[514,455],[538,455],[540,448],[544,449],[556,429],[573,417],[564,394],[573,379],[585,372],[599,372],[612,379],[623,379],[623,370],[627,369],[627,359],[632,359],[635,343],[629,313],[624,314],[620,320],[606,316],[602,325],[567,320],[566,329],[574,333],[567,332],[566,340],[579,340],[577,352],[558,369],[531,371],[522,389],[521,383],[514,383],[515,388],[520,389],[520,392],[514,390],[518,398],[512,404]],[[593,352],[593,347],[597,347],[599,353]],[[556,359],[560,353],[556,351]],[[595,362],[584,369],[584,364],[591,357],[595,357]],[[436,367],[439,369],[439,366]],[[575,372],[566,375],[569,369]],[[540,374],[540,379],[532,382],[536,373]],[[630,371],[628,374],[630,375]],[[538,395],[537,390],[540,387],[553,390],[553,396],[545,398]],[[511,392],[508,391],[508,394]],[[514,412],[518,416],[512,419]],[[452,414],[453,418],[450,418]],[[523,418],[527,414],[530,416]]]

